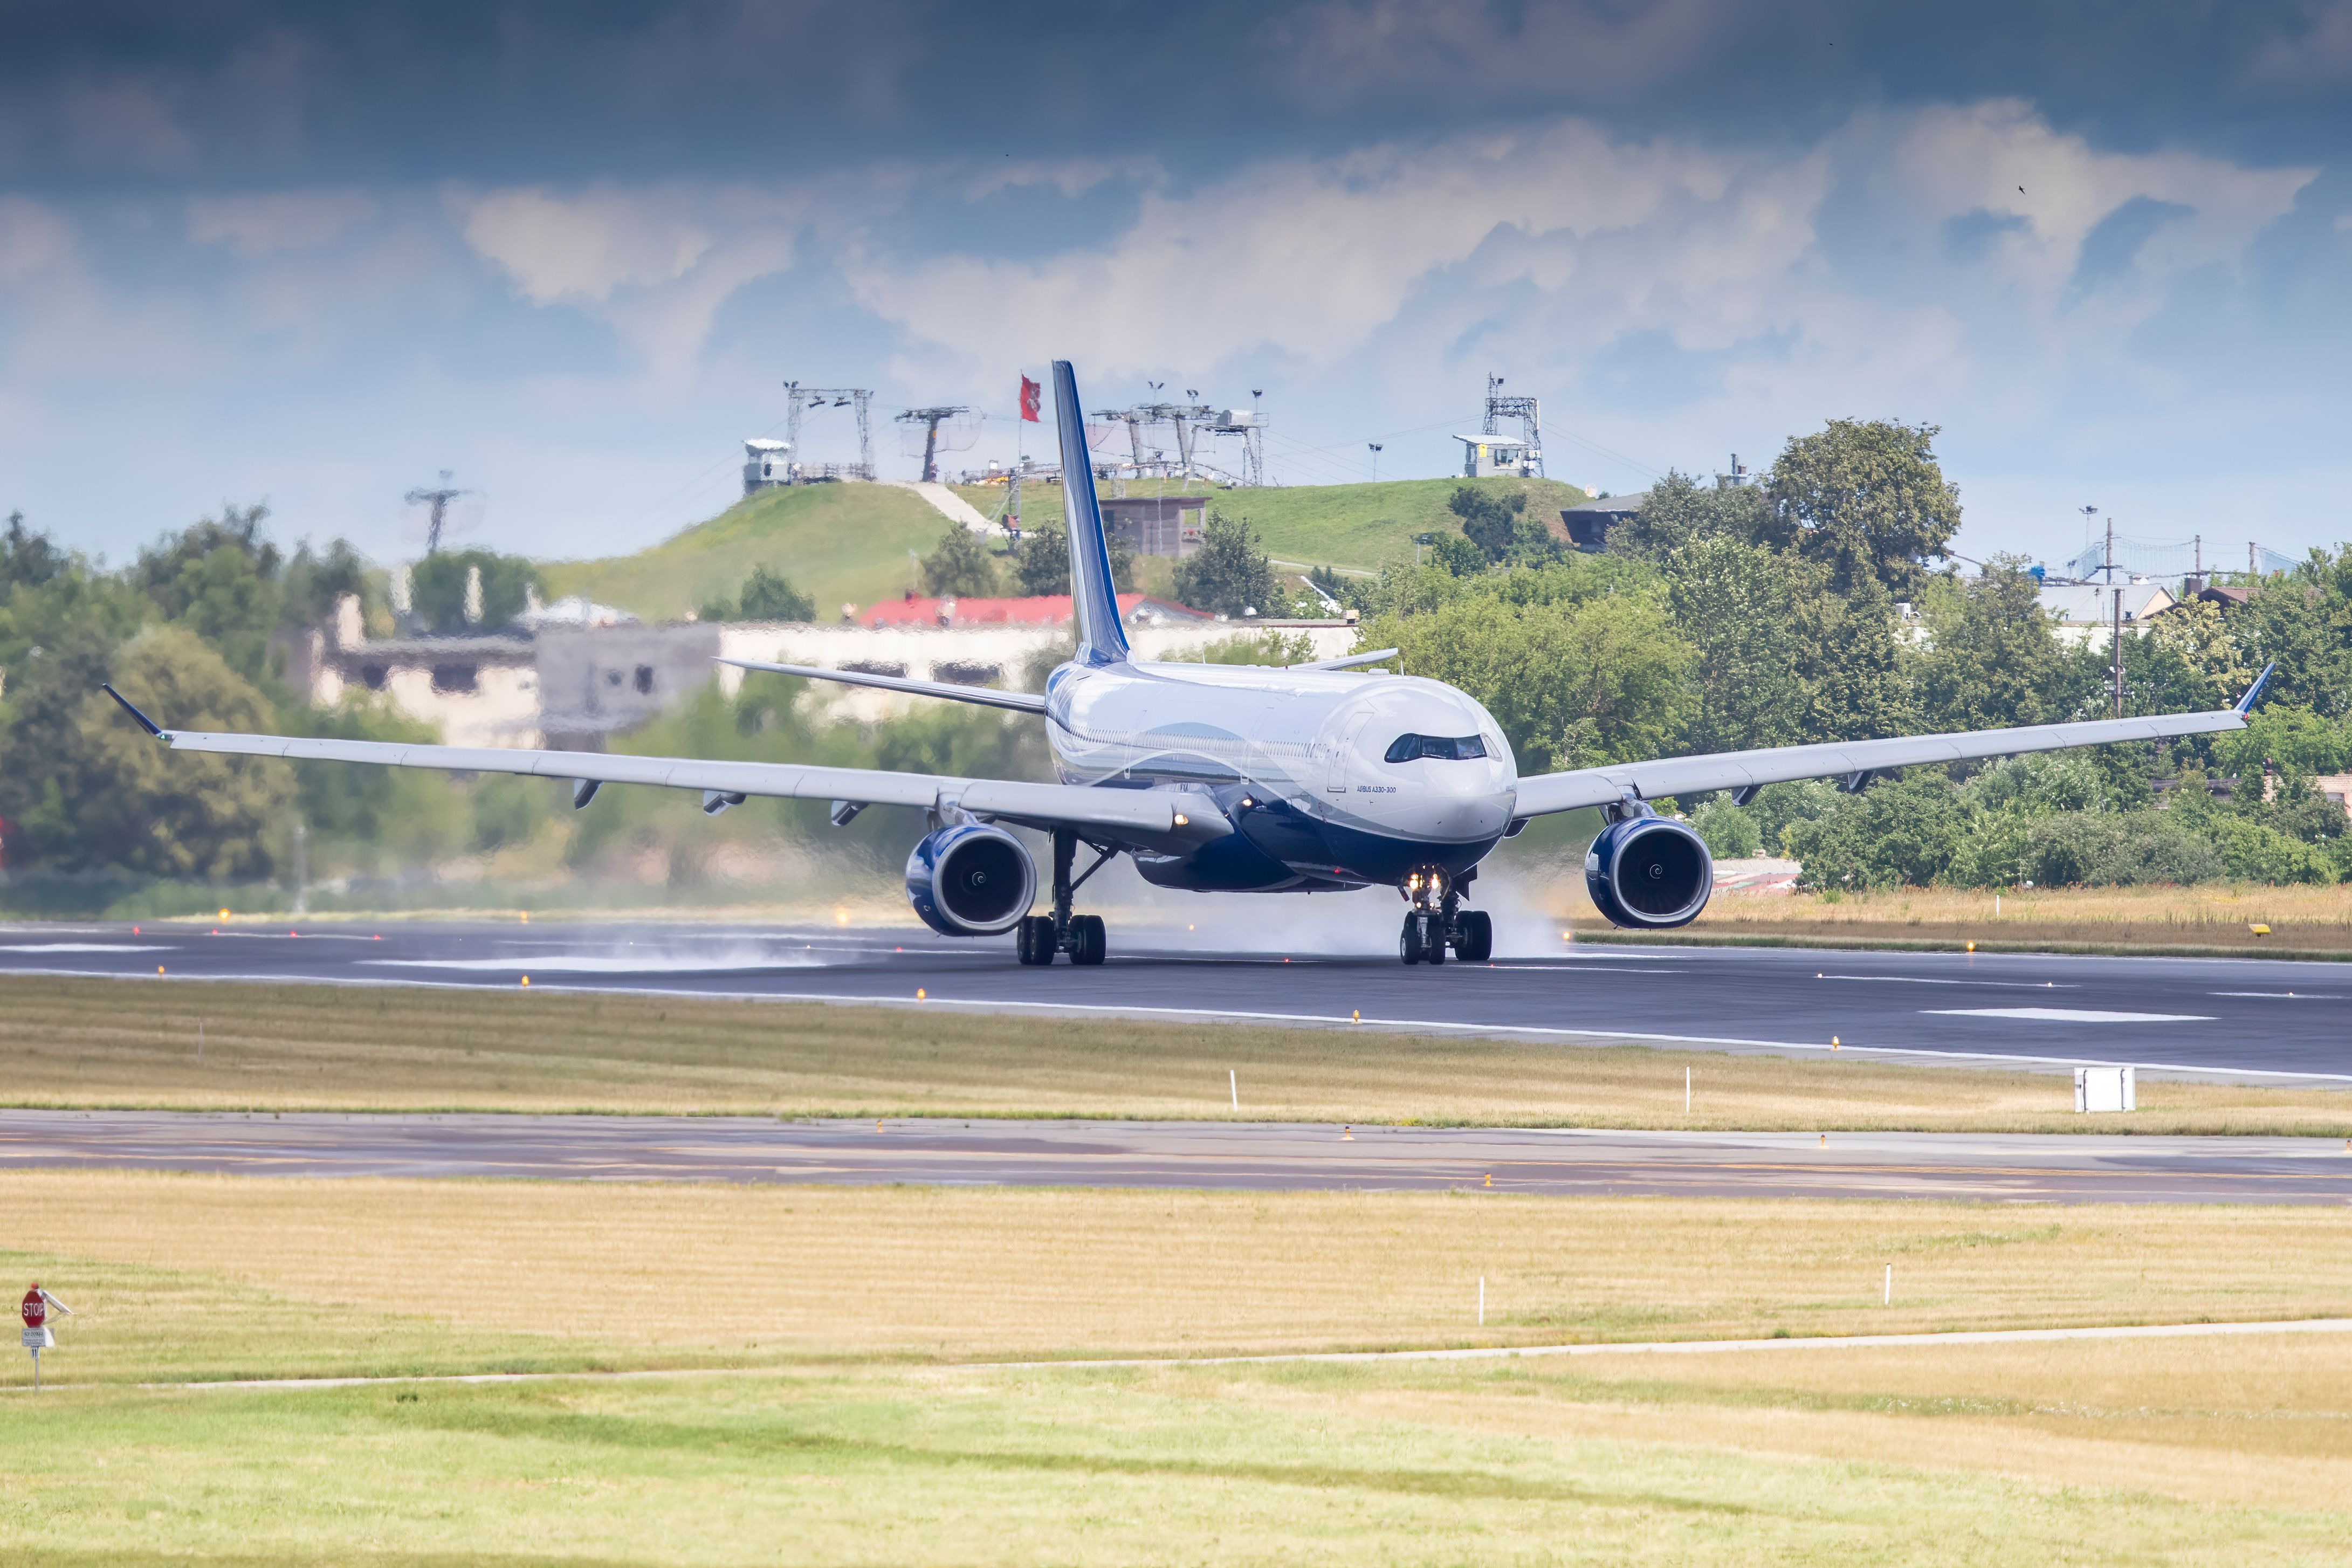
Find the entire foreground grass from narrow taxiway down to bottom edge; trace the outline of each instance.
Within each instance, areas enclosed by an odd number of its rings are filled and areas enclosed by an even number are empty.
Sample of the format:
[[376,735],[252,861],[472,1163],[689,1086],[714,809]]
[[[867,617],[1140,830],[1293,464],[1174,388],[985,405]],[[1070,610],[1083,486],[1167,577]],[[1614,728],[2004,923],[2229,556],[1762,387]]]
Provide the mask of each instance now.
[[[78,1307],[61,1387],[0,1394],[12,1563],[2237,1566],[2352,1528],[2340,1335],[946,1363],[2345,1312],[2328,1211],[115,1173],[0,1208]],[[748,1371],[132,1387],[663,1363]]]

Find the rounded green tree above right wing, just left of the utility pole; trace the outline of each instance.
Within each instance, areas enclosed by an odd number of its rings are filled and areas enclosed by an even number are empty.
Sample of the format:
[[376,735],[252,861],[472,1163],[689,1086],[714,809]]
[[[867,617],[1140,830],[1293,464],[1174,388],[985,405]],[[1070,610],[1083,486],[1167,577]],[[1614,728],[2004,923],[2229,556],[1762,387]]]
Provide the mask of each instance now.
[[2023,557],[1997,555],[1957,599],[1929,599],[1919,708],[1933,729],[2067,717],[2058,710],[2067,656],[2039,595],[2042,583],[2025,574]]

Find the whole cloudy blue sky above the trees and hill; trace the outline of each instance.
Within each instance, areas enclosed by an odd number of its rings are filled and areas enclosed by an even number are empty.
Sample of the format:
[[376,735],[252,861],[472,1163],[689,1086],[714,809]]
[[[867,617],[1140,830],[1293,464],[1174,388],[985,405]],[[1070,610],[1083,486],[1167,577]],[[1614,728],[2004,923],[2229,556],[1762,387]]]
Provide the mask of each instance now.
[[[0,0],[0,510],[635,550],[783,381],[1197,390],[1284,484],[1486,376],[1637,491],[1938,425],[1957,548],[2352,538],[2352,0]],[[1162,390],[1155,390],[1157,388]],[[1030,451],[1037,451],[1035,425]],[[1371,454],[1369,444],[1381,451]],[[854,456],[847,411],[809,461]]]

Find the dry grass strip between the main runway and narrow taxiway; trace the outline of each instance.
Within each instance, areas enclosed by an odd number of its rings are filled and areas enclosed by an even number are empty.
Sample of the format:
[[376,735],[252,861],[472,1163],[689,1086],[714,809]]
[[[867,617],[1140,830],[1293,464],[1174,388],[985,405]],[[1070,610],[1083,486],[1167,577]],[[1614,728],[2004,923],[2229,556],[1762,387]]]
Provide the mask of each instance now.
[[1277,1121],[2352,1135],[2347,1091],[2143,1081],[2138,1112],[2086,1126],[2051,1072],[546,990],[0,978],[0,1105],[1223,1119],[1228,1067],[1240,1114]]

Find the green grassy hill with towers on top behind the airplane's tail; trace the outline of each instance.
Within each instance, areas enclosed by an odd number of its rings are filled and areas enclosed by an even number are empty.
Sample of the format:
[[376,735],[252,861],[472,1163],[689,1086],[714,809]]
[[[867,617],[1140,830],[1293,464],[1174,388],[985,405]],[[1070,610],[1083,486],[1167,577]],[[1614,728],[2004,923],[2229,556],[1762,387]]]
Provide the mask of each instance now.
[[[1456,484],[1489,494],[1526,491],[1529,512],[1559,527],[1559,508],[1585,491],[1557,480],[1390,480],[1385,484],[1298,484],[1211,489],[1209,505],[1249,517],[1277,562],[1376,571],[1414,552],[1414,534],[1456,529],[1446,496]],[[1002,487],[957,487],[983,517],[1004,510]],[[1110,494],[1105,489],[1105,494]],[[1129,487],[1129,494],[1152,494]],[[1169,491],[1174,494],[1174,491]],[[1192,487],[1202,494],[1202,487]],[[1021,491],[1023,512],[1061,512],[1058,484]],[[873,604],[910,583],[906,552],[929,555],[948,520],[920,496],[887,484],[809,484],[746,496],[710,522],[635,555],[546,567],[550,595],[586,592],[654,621],[670,621],[713,595],[734,595],[753,567],[788,576],[816,599],[821,618],[844,602]],[[1138,585],[1167,592],[1167,567],[1143,562]]]

